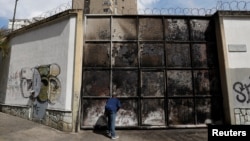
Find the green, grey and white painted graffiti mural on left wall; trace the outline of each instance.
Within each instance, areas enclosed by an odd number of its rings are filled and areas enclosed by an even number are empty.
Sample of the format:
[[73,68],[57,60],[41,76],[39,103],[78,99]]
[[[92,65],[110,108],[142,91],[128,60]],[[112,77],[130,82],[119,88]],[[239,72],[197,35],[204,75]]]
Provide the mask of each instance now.
[[21,92],[24,98],[33,102],[33,117],[42,119],[48,104],[55,104],[61,95],[61,83],[57,76],[60,67],[57,64],[41,65],[34,68],[22,68]]

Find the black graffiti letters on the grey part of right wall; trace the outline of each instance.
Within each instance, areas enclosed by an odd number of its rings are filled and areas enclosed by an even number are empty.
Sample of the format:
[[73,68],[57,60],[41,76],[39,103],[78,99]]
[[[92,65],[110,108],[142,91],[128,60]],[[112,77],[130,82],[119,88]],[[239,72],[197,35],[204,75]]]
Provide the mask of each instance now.
[[[249,77],[250,78],[250,77]],[[235,82],[233,90],[236,92],[236,101],[239,103],[250,103],[250,80],[248,82]]]

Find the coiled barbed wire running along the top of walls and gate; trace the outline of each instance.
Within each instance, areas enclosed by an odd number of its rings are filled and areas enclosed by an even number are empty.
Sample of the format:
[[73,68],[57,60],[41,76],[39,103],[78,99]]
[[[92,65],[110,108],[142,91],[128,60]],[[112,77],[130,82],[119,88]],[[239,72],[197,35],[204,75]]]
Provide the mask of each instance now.
[[[74,2],[72,4],[71,1],[68,3],[64,3],[59,5],[58,7],[46,11],[36,17],[33,17],[32,19],[29,19],[28,24],[40,21],[42,19],[51,17],[53,15],[56,15],[58,13],[61,13],[63,11],[69,10],[69,9],[82,9],[82,3]],[[90,14],[100,14],[103,12],[103,9],[90,9],[90,8],[84,8],[84,13],[90,13]],[[250,11],[250,1],[217,1],[217,4],[213,8],[145,8],[145,9],[117,9],[116,12],[119,14],[138,14],[138,15],[197,15],[197,16],[204,16],[204,15],[212,15],[216,13],[217,11]],[[108,14],[115,14],[115,13],[108,13]]]

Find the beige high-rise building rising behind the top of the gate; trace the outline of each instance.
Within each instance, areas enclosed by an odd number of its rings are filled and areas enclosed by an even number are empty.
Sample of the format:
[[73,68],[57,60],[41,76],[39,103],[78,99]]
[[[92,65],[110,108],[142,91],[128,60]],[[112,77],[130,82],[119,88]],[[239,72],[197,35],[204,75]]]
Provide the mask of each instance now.
[[73,0],[73,9],[84,14],[137,14],[136,0]]

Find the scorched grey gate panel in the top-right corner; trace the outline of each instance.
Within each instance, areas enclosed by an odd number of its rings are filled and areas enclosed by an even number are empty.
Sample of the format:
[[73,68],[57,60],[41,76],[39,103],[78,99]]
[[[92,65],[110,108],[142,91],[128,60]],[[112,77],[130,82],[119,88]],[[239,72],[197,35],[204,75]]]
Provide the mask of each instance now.
[[191,26],[191,40],[192,41],[206,41],[207,38],[213,38],[213,37],[209,37],[211,36],[211,34],[207,34],[207,32],[211,32],[209,31],[210,28],[208,28],[209,20],[193,19],[193,20],[190,20],[190,26]]

